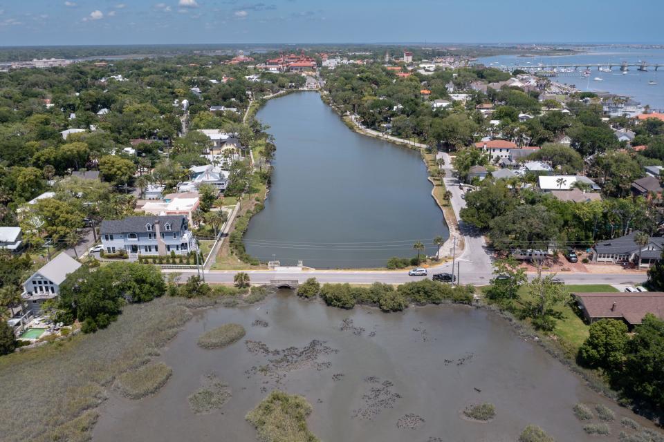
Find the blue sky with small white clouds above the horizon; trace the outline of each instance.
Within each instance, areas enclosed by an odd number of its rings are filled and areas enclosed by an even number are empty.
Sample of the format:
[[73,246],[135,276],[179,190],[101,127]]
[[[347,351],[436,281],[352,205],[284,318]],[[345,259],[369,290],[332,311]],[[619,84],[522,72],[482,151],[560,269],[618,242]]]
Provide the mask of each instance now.
[[0,46],[664,43],[664,0],[0,0]]

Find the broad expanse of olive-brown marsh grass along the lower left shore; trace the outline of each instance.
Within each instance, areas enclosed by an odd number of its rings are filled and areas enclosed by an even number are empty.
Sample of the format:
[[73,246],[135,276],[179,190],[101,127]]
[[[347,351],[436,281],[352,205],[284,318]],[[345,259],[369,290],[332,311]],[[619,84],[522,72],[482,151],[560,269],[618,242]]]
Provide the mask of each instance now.
[[[145,365],[191,317],[178,298],[127,305],[111,327],[0,358],[0,439],[89,440],[108,389]],[[20,387],[19,387],[20,386]]]

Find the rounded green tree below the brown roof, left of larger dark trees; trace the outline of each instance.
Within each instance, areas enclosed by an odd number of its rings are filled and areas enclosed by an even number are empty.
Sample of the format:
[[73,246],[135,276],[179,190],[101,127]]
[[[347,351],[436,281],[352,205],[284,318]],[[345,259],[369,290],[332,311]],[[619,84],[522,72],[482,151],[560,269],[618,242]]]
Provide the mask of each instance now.
[[591,368],[619,369],[625,358],[627,325],[621,320],[601,319],[589,327],[589,336],[579,349],[579,360]]

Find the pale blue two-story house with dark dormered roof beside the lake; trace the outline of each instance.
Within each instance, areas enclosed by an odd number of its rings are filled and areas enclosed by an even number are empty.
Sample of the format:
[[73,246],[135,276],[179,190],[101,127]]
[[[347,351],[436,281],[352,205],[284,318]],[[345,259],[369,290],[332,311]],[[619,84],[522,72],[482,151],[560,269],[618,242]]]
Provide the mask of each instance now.
[[138,255],[186,255],[196,251],[196,239],[184,215],[129,216],[104,220],[99,229],[104,251]]

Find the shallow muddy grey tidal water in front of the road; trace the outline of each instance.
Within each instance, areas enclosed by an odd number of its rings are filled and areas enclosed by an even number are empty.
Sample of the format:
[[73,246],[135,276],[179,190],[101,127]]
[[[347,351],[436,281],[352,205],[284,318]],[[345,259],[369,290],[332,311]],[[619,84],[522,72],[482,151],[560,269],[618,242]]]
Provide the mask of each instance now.
[[[225,349],[196,345],[225,323],[243,325],[246,336]],[[559,442],[617,441],[623,416],[652,427],[589,390],[504,319],[460,305],[345,311],[284,290],[260,305],[200,311],[159,359],[173,369],[165,387],[140,401],[113,394],[94,441],[255,441],[244,416],[274,388],[307,398],[308,426],[326,442],[516,441],[529,423]],[[194,414],[187,396],[209,374],[230,385],[232,398]],[[461,418],[481,402],[495,405],[493,421]],[[616,412],[611,436],[583,432],[572,412],[578,402]]]

